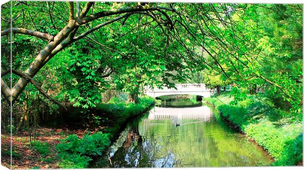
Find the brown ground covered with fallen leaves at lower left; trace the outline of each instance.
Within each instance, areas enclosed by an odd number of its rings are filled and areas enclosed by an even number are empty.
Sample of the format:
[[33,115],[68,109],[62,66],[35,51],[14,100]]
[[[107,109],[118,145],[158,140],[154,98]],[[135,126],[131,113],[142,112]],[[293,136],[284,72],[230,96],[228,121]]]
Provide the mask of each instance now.
[[[12,169],[56,169],[59,168],[56,145],[69,134],[81,138],[96,129],[76,129],[69,126],[38,127],[36,141],[47,142],[50,146],[47,156],[41,156],[30,144],[28,131],[21,131],[12,137]],[[1,165],[10,167],[10,135],[1,133]]]

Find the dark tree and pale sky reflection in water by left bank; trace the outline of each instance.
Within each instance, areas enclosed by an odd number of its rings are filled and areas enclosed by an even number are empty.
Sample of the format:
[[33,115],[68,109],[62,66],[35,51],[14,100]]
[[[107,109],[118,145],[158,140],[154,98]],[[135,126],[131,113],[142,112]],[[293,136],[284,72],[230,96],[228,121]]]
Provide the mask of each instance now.
[[[138,124],[138,123],[137,123]],[[172,135],[173,133],[171,133]],[[170,143],[171,135],[168,137],[167,142],[163,147],[167,150]],[[143,141],[142,136],[139,134],[138,125],[133,125],[130,129],[126,140],[123,142],[122,147],[118,148],[112,159],[112,167],[174,167],[174,165],[181,167],[181,161],[175,159],[174,153],[168,151],[163,155],[157,156],[161,153],[160,146],[154,139],[154,133],[151,133],[150,141]],[[151,142],[153,141],[153,142]]]

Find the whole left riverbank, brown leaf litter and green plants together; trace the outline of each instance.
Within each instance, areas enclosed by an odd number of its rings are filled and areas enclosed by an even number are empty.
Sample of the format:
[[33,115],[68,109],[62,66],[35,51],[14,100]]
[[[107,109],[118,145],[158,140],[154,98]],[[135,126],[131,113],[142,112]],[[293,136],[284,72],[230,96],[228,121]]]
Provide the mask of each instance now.
[[[91,122],[93,127],[64,124],[39,126],[34,147],[29,142],[27,130],[13,134],[12,168],[86,168],[94,157],[101,155],[111,144],[128,120],[146,113],[153,103],[154,99],[148,96],[140,97],[138,104],[124,103],[114,98],[96,107],[94,122]],[[1,134],[3,165],[10,162],[9,139],[9,135]],[[6,166],[9,167],[8,164]]]

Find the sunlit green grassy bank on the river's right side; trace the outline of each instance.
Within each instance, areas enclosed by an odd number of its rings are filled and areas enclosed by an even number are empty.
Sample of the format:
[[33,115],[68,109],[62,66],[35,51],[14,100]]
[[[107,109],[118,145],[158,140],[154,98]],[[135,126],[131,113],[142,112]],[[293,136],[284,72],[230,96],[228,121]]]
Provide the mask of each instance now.
[[224,94],[206,98],[221,116],[255,140],[274,158],[273,166],[293,166],[303,160],[303,123],[275,109],[263,97],[250,95],[230,105],[233,97]]

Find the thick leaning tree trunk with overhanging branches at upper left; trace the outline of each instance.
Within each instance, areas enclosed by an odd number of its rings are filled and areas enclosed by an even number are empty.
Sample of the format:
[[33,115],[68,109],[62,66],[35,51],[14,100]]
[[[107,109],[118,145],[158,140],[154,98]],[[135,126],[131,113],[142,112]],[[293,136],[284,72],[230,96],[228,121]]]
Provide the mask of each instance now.
[[[70,20],[67,23],[67,25],[54,37],[50,38],[50,36],[40,33],[40,32],[31,32],[31,31],[22,31],[20,29],[16,29],[16,33],[20,32],[23,34],[28,34],[40,38],[44,38],[47,40],[50,40],[48,44],[39,52],[39,54],[36,56],[35,60],[31,63],[29,68],[24,72],[29,77],[33,78],[38,71],[49,61],[56,53],[58,53],[60,50],[68,46],[69,44],[75,42],[76,40],[72,40],[74,34],[76,33],[76,30],[78,27],[82,24],[86,24],[90,21],[93,21],[98,18],[102,18],[105,16],[111,16],[121,13],[137,13],[141,11],[154,11],[157,10],[157,7],[143,7],[143,6],[134,6],[134,7],[125,7],[125,8],[119,8],[119,9],[113,9],[108,11],[101,11],[93,15],[85,16],[88,11],[90,10],[91,6],[94,4],[94,2],[88,2],[86,6],[83,8],[80,17],[76,20],[72,19],[70,15]],[[70,13],[73,13],[73,3],[70,3],[69,5]],[[165,10],[165,9],[164,9]],[[168,9],[166,9],[168,10]],[[113,21],[115,22],[115,21]],[[102,25],[103,26],[103,25]],[[89,31],[86,34],[89,34],[91,31]],[[7,33],[3,32],[4,34],[9,34],[8,30]],[[3,35],[4,35],[3,34]],[[71,36],[73,35],[73,36]],[[8,91],[11,91],[11,101],[12,104],[17,100],[21,92],[24,90],[24,88],[28,85],[29,81],[27,79],[21,78],[18,80],[18,82],[12,87],[12,89],[9,89]],[[5,82],[1,82],[1,86],[5,85]],[[6,85],[7,86],[7,85]],[[4,97],[6,97],[6,100],[9,100],[10,95],[6,95],[5,91],[1,91]],[[8,97],[9,96],[9,97]]]

